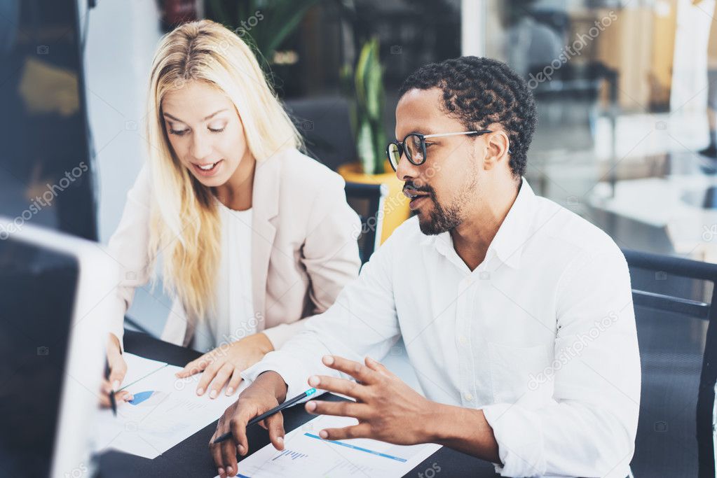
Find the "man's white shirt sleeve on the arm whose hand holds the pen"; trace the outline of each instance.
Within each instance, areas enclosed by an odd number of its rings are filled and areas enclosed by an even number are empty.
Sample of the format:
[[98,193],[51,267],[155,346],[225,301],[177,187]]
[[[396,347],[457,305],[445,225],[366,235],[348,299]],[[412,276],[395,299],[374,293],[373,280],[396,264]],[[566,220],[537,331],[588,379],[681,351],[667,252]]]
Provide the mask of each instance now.
[[[321,362],[326,354],[354,361],[364,357],[382,358],[399,338],[399,323],[391,285],[391,236],[356,281],[348,284],[324,313],[304,319],[305,328],[279,351],[267,355],[245,370],[242,377],[254,381],[265,371],[276,371],[288,385],[287,397],[306,389],[313,374],[342,376]],[[350,378],[343,376],[343,378]]]

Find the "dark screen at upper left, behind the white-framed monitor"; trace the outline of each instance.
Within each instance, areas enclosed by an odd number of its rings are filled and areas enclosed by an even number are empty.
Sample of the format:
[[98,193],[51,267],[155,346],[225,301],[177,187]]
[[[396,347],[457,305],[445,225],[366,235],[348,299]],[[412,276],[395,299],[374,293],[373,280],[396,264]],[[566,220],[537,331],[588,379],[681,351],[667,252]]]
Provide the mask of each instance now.
[[97,240],[81,52],[77,0],[0,0],[0,215],[11,229]]

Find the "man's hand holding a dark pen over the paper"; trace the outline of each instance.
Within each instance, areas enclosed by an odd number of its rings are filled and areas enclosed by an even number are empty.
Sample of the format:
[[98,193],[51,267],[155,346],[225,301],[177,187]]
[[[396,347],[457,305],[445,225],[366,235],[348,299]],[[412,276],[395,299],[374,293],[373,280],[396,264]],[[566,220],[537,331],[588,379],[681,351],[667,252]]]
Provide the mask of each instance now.
[[[264,372],[224,411],[217,424],[217,431],[209,441],[209,449],[220,477],[233,477],[237,474],[237,453],[243,457],[249,452],[247,423],[284,401],[286,390],[284,379],[279,374],[273,371]],[[284,417],[281,412],[269,416],[259,424],[269,431],[269,439],[275,449],[284,449]],[[215,439],[229,431],[232,432],[232,438],[214,444]]]

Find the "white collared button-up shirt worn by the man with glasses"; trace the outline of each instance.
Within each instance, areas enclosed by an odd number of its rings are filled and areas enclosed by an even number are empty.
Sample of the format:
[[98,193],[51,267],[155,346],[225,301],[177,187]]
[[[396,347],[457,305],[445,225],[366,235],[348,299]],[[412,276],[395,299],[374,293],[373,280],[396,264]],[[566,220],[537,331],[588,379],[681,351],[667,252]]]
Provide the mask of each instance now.
[[578,215],[525,179],[471,271],[450,233],[407,220],[336,303],[244,371],[277,371],[287,396],[333,353],[380,359],[403,336],[427,398],[483,409],[504,476],[625,477],[640,408],[627,263]]

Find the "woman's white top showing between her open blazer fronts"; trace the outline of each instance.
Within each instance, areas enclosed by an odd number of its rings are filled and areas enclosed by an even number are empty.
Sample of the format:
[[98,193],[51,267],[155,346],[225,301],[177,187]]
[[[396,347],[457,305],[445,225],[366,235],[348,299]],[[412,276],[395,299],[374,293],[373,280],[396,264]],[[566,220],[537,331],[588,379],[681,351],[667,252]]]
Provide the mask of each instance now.
[[202,353],[257,331],[252,303],[252,210],[232,210],[216,202],[222,221],[222,253],[214,316],[200,320],[194,331],[194,348]]

